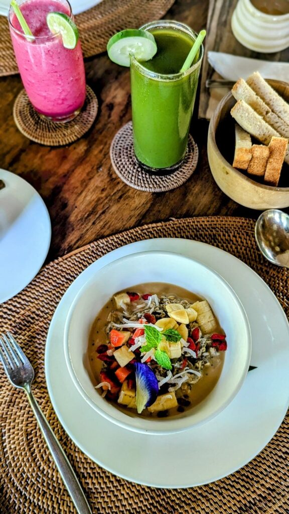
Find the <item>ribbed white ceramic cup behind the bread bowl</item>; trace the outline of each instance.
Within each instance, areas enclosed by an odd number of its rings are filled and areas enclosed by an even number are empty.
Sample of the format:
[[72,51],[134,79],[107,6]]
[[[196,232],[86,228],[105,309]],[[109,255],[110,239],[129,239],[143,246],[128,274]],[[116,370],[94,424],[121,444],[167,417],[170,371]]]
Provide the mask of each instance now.
[[235,38],[250,50],[273,53],[289,46],[289,14],[265,14],[250,0],[239,0],[231,28]]

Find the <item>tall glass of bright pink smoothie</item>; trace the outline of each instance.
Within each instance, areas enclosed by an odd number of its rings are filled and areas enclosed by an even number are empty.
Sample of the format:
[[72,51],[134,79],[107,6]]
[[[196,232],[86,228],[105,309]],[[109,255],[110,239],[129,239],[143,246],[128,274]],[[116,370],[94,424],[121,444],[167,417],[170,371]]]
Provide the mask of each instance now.
[[46,24],[48,12],[69,13],[60,0],[26,0],[20,6],[34,40],[26,38],[10,8],[10,33],[22,82],[32,105],[51,118],[65,118],[80,109],[85,100],[85,73],[80,41],[64,48],[60,35],[52,35]]

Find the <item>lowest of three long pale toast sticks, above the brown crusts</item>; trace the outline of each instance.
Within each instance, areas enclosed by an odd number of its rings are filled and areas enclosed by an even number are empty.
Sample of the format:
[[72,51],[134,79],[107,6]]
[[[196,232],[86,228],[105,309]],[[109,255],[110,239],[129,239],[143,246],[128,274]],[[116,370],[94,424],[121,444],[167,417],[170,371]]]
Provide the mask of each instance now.
[[[261,143],[268,145],[272,137],[280,138],[280,134],[278,134],[275,128],[268,125],[244,100],[238,100],[231,109],[231,115],[246,132],[261,141]],[[284,160],[289,164],[288,145]]]

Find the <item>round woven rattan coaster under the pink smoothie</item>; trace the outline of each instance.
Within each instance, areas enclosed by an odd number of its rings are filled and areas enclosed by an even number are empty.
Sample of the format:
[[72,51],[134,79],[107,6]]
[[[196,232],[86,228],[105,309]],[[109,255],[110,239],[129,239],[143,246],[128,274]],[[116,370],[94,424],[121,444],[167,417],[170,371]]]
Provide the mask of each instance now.
[[31,141],[61,146],[81,138],[91,128],[97,111],[98,101],[94,91],[86,86],[86,99],[80,114],[66,123],[53,123],[35,111],[23,89],[15,100],[13,117],[17,128]]

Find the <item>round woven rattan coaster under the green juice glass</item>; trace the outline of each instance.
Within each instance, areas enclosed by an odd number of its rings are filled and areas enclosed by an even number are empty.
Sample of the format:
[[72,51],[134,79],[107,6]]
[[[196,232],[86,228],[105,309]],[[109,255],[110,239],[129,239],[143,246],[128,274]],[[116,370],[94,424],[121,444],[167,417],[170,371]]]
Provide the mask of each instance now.
[[135,159],[133,125],[129,121],[115,135],[110,155],[114,171],[128,186],[149,193],[161,193],[178,188],[188,180],[196,169],[198,149],[192,136],[189,136],[187,153],[182,165],[170,175],[151,175],[143,170]]

